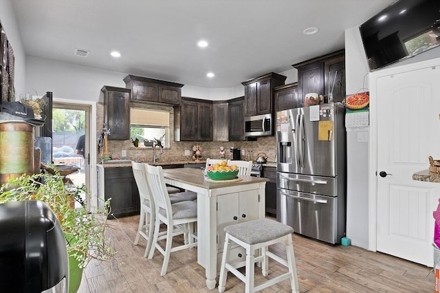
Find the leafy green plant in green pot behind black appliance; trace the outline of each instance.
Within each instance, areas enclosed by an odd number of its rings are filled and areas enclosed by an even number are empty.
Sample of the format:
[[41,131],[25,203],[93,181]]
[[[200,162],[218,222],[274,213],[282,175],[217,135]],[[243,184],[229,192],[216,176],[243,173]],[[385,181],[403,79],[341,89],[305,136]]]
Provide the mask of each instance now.
[[[0,203],[36,200],[45,202],[54,211],[65,233],[69,254],[69,292],[76,292],[83,268],[91,261],[111,261],[115,250],[105,230],[110,226],[110,199],[96,213],[89,213],[80,195],[87,192],[85,185],[63,182],[63,176],[54,168],[54,174],[22,175],[0,188]],[[75,207],[78,202],[78,207]]]

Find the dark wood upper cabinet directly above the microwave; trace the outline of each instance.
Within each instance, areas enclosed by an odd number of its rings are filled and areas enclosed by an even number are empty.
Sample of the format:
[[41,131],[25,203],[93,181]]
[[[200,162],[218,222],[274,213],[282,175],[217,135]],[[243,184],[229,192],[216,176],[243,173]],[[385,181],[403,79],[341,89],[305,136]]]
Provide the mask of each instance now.
[[250,117],[274,112],[274,87],[284,85],[286,76],[271,72],[247,80],[245,86],[244,116]]

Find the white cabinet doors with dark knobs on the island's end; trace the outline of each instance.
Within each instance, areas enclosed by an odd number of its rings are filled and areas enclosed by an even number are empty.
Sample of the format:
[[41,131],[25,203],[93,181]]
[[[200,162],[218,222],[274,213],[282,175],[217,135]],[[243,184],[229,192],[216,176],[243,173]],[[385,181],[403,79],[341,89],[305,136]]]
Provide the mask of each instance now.
[[223,248],[225,226],[259,219],[258,190],[228,193],[217,197],[217,248]]

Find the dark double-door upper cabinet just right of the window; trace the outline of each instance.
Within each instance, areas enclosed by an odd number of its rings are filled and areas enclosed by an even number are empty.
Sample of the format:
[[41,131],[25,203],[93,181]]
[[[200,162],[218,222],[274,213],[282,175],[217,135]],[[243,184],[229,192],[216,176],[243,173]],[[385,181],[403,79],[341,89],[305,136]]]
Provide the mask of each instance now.
[[182,98],[174,115],[175,141],[212,141],[212,101]]

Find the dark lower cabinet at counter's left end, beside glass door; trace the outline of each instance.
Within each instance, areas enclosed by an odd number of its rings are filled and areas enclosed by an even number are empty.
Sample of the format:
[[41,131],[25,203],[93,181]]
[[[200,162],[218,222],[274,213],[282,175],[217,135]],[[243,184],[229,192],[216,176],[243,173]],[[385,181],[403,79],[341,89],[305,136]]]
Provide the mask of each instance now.
[[[115,217],[139,215],[139,191],[131,167],[98,166],[98,197],[110,200]],[[109,216],[109,219],[113,217]]]

